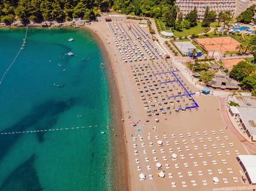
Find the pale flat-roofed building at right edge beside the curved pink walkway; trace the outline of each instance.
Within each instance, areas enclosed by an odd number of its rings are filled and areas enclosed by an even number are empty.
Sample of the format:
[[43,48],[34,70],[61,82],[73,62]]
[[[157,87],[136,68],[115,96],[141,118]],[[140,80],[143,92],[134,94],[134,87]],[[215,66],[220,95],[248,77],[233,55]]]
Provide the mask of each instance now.
[[241,130],[245,130],[249,139],[256,141],[256,97],[234,96],[232,99],[239,106],[229,106],[230,114]]

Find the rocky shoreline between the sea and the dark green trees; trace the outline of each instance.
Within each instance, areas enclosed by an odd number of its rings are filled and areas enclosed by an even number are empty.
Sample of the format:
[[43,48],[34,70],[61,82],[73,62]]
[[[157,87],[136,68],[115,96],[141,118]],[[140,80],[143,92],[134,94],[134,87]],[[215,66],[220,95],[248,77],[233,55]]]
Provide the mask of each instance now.
[[75,27],[79,28],[80,26],[90,25],[90,21],[84,21],[81,19],[74,20],[74,21],[67,21],[67,22],[56,22],[56,21],[43,21],[43,22],[33,22],[30,21],[29,23],[25,24],[21,21],[13,22],[10,25],[6,25],[3,22],[0,22],[0,27]]

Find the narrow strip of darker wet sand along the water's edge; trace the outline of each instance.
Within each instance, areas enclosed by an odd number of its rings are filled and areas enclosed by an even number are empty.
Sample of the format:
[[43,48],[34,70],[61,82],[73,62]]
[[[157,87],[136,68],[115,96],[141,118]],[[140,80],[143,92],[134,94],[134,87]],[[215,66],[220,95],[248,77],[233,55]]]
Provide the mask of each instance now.
[[120,138],[124,134],[124,126],[122,122],[123,109],[120,97],[120,92],[118,91],[118,84],[116,83],[115,74],[113,74],[113,68],[111,63],[111,55],[109,51],[106,50],[104,46],[103,39],[100,38],[99,34],[96,33],[92,28],[86,27],[95,37],[96,43],[100,47],[101,55],[103,55],[106,64],[106,76],[109,83],[110,89],[110,105],[111,105],[111,122],[110,129],[112,129],[112,145],[113,145],[113,160],[112,160],[112,177],[111,180],[112,189],[114,190],[129,190],[129,171],[123,171],[122,169],[128,169],[128,163],[126,162],[127,151],[124,139]]

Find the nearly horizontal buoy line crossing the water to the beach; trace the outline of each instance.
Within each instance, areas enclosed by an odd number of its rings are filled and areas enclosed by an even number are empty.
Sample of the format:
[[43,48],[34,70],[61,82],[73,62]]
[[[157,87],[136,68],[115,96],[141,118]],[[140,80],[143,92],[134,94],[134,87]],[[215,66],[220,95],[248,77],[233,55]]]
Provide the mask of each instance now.
[[[122,124],[122,123],[118,123],[118,124]],[[53,129],[41,129],[41,130],[26,130],[26,131],[22,131],[22,132],[5,132],[5,133],[0,133],[0,135],[53,132],[53,131],[59,131],[59,130],[84,129],[84,128],[91,128],[91,127],[107,127],[107,128],[109,128],[109,125],[103,124],[103,125],[70,127],[70,128],[53,128]]]

